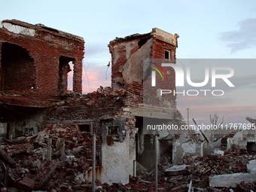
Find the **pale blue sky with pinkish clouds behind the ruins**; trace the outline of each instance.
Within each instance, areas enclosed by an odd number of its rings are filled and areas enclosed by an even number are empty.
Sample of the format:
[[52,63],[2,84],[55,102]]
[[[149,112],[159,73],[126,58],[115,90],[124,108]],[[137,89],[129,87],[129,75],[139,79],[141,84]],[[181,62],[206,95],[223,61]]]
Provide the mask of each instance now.
[[[178,96],[177,107],[184,119],[186,108],[190,108],[190,117],[201,123],[209,123],[209,115],[215,112],[220,119],[224,116],[225,123],[248,123],[245,117],[256,117],[256,66],[253,64],[256,2],[253,0],[1,0],[0,20],[11,19],[42,23],[84,38],[83,93],[93,92],[100,85],[110,86],[109,41],[148,33],[154,27],[180,36],[177,59],[251,59],[251,62],[229,64],[235,71],[232,78],[235,89],[227,89],[218,99]],[[203,66],[193,66],[194,79],[198,78],[197,69]]]

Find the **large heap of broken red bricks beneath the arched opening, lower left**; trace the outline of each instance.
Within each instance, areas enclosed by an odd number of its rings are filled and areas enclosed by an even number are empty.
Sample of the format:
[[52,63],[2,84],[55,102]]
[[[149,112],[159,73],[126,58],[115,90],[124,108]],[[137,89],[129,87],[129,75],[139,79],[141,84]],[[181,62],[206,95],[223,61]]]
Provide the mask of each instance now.
[[[51,160],[46,158],[48,138],[52,139]],[[59,139],[62,138],[65,139],[66,149],[65,155],[61,156]],[[53,124],[37,136],[5,139],[0,153],[4,152],[8,158],[1,163],[0,185],[4,187],[5,166],[9,164],[8,185],[20,189],[15,191],[86,190],[88,181],[76,176],[92,166],[92,145],[90,133],[80,132],[72,124]],[[99,137],[96,137],[97,145],[100,145]],[[96,152],[96,166],[99,166],[99,151]]]

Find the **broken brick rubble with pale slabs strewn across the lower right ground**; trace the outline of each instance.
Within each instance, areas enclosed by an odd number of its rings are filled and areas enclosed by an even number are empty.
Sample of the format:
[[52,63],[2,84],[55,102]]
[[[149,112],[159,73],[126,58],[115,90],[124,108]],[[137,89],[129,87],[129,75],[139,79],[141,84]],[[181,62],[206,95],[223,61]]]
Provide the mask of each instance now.
[[[225,175],[236,172],[248,172],[246,165],[250,160],[255,160],[256,155],[247,151],[233,148],[223,156],[210,154],[209,157],[184,156],[183,163],[172,166],[169,156],[165,153],[158,166],[158,191],[188,191],[193,187],[194,191],[250,191],[256,189],[256,181],[245,183],[242,181],[236,187],[210,187],[209,176]],[[139,177],[130,176],[129,184],[102,184],[98,191],[154,191],[154,171],[146,172],[146,169],[137,163]],[[145,175],[142,175],[144,173]],[[190,186],[191,184],[191,186]],[[192,191],[192,190],[190,190]]]

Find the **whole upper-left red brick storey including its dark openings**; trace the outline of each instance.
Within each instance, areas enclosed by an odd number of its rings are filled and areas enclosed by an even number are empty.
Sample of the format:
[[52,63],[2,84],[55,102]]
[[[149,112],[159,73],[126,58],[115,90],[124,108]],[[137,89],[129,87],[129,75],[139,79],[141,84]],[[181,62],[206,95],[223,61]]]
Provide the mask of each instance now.
[[83,38],[41,24],[4,20],[0,25],[0,48],[1,91],[54,99],[67,89],[62,76],[72,61],[73,90],[82,92]]

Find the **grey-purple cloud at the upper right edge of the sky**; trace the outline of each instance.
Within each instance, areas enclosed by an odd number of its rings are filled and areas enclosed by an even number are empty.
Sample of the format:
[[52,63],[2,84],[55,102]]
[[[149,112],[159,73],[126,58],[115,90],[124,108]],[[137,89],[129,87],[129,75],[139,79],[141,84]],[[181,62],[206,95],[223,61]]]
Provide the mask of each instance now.
[[245,50],[256,45],[256,18],[248,18],[239,21],[238,30],[230,32],[222,32],[220,39],[227,41],[227,47],[231,49],[231,53],[239,50]]

